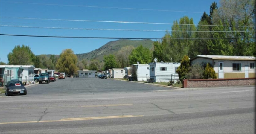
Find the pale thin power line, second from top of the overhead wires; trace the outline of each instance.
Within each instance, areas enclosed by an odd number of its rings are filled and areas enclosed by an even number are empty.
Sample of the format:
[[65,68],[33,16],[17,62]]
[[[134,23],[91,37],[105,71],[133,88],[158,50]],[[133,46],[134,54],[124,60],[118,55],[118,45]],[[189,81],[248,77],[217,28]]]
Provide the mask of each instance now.
[[[129,21],[105,21],[105,20],[72,20],[72,19],[42,19],[27,17],[0,17],[11,19],[30,19],[30,20],[57,20],[57,21],[77,21],[77,22],[110,22],[110,23],[131,23],[131,24],[164,24],[164,25],[185,25],[185,26],[222,26],[222,25],[201,25],[201,24],[175,24],[175,23],[159,23],[159,22],[129,22]],[[229,26],[229,25],[223,25]],[[255,27],[255,26],[235,26],[235,27]]]

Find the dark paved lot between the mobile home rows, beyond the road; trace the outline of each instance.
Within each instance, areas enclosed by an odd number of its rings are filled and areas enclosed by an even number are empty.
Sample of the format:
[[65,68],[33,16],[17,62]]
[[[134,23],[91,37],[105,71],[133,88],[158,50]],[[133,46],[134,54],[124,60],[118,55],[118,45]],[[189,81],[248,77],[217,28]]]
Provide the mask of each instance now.
[[36,84],[28,86],[28,95],[55,95],[55,94],[80,94],[80,93],[104,93],[104,92],[150,92],[155,90],[167,90],[171,87],[154,86],[114,79],[99,78],[66,78],[56,79],[49,84]]

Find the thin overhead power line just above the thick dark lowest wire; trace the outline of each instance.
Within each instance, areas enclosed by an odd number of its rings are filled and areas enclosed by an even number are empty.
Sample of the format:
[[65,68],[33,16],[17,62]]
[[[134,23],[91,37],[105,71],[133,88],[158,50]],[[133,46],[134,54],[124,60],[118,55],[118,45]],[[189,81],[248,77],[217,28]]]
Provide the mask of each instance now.
[[135,29],[104,29],[104,28],[61,28],[61,27],[40,27],[40,26],[17,26],[17,25],[2,25],[5,27],[18,28],[45,28],[45,29],[68,29],[68,30],[115,30],[115,31],[139,31],[139,32],[255,32],[255,31],[193,31],[193,30],[135,30]]

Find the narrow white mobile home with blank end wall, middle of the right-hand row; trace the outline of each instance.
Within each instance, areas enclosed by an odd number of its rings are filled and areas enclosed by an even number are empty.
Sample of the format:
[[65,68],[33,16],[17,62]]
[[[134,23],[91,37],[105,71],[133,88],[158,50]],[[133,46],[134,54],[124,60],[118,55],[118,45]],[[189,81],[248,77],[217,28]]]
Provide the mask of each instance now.
[[137,80],[147,81],[150,78],[150,71],[148,64],[133,64],[137,70]]

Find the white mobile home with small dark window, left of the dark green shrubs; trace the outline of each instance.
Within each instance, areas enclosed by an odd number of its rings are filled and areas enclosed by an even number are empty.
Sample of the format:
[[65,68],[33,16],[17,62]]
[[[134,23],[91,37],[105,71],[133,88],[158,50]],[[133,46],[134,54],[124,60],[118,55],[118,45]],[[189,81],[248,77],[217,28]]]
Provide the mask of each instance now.
[[180,63],[174,62],[154,62],[150,65],[150,79],[153,82],[169,82],[170,80],[177,81],[179,76],[176,73]]

